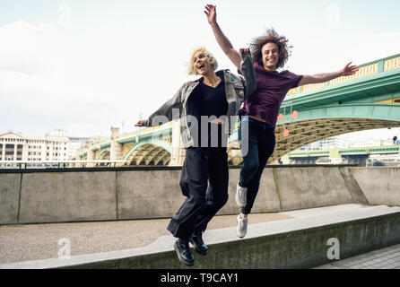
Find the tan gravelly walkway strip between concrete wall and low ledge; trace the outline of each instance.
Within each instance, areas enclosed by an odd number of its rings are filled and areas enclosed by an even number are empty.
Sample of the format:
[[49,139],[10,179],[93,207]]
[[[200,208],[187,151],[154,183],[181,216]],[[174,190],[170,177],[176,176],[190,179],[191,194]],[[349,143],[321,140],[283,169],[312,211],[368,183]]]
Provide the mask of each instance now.
[[[215,216],[207,230],[236,226],[237,215]],[[251,223],[292,218],[282,213],[251,214]],[[70,243],[71,256],[141,248],[170,235],[170,219],[0,225],[0,265],[57,258]]]

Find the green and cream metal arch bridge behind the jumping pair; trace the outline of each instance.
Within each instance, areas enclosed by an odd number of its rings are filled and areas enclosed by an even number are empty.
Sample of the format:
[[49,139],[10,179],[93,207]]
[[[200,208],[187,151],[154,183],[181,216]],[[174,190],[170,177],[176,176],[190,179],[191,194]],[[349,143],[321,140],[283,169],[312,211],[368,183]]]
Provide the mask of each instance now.
[[[288,92],[275,129],[275,151],[268,163],[327,137],[400,126],[400,54],[359,67],[352,76],[303,85]],[[237,138],[236,130],[229,139],[230,164],[242,161]],[[170,122],[91,143],[77,160],[181,165],[185,152],[179,140],[179,125]]]

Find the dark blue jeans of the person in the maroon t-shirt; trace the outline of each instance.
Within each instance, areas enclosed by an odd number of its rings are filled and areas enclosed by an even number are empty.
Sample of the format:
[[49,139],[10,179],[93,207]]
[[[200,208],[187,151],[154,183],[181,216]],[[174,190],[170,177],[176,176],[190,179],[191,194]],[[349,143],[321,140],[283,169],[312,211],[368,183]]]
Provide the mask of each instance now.
[[[244,136],[244,138],[242,138]],[[244,151],[245,142],[246,151]],[[240,170],[239,186],[248,187],[248,198],[246,206],[241,213],[251,212],[260,186],[261,175],[265,164],[274,152],[275,131],[274,127],[262,126],[255,120],[240,122],[239,143],[243,154],[243,166]]]

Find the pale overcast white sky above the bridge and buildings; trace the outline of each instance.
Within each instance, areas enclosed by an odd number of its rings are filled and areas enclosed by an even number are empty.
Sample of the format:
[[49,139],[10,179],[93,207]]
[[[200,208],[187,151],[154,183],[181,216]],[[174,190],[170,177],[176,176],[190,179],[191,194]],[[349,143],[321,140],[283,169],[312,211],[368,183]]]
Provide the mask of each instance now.
[[0,0],[0,133],[135,131],[140,117],[196,78],[187,61],[198,46],[236,71],[213,38],[205,4],[216,4],[235,48],[266,28],[285,35],[293,46],[285,68],[296,74],[400,53],[397,0]]

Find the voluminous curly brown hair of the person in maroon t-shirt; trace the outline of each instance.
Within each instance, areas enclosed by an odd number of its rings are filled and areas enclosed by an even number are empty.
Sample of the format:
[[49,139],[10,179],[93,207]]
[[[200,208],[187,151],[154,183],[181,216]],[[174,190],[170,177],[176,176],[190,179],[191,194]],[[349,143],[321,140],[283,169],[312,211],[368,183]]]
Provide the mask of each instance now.
[[266,43],[270,42],[275,43],[279,48],[279,60],[276,68],[281,68],[288,61],[289,57],[288,39],[283,35],[279,35],[274,28],[267,29],[265,33],[251,39],[249,47],[253,63],[263,65],[261,50]]

